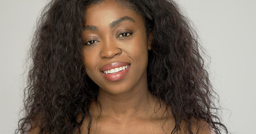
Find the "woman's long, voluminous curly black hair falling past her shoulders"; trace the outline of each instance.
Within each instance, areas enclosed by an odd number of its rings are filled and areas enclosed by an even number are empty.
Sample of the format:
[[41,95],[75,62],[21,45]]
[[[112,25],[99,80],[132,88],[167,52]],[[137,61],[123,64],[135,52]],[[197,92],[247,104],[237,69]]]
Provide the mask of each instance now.
[[[24,115],[15,133],[26,133],[34,127],[40,133],[80,133],[84,121],[89,122],[90,129],[89,108],[97,99],[98,85],[85,73],[81,32],[86,7],[97,2],[52,0],[44,8],[30,50],[32,64],[24,92]],[[218,96],[205,70],[198,36],[179,6],[167,0],[118,2],[138,12],[152,35],[148,88],[167,104],[166,112],[175,118],[171,133],[180,130],[182,121],[193,133],[194,119],[207,122],[216,133],[228,133],[221,123],[220,109],[214,105]]]

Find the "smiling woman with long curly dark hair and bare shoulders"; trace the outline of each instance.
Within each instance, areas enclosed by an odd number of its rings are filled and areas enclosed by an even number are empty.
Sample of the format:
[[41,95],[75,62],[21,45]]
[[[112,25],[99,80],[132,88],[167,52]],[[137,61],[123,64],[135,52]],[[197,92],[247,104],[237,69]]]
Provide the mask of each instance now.
[[16,133],[227,133],[173,1],[52,1],[31,59]]

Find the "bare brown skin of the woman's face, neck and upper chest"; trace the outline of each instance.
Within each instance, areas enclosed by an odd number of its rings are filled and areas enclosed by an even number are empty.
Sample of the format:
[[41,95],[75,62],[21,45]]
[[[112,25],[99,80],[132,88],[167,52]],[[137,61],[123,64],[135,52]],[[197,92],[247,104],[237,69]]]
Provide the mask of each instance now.
[[[155,113],[154,108],[157,110],[159,104],[147,86],[148,50],[151,48],[143,18],[114,0],[93,4],[86,9],[85,16],[85,26],[91,28],[85,28],[83,40],[95,40],[95,44],[83,47],[85,70],[99,85],[98,101],[102,107],[100,114],[99,104],[92,103],[90,112],[93,122],[90,133],[171,133],[175,122],[170,109],[167,118],[167,114],[163,114],[166,104],[161,102],[162,108]],[[110,27],[113,21],[125,16],[134,21],[125,20],[115,27]],[[132,34],[123,37],[121,33],[124,32]],[[130,63],[130,70],[123,79],[109,82],[103,78],[99,69],[115,61]],[[88,133],[88,121],[85,119],[81,125],[81,133]],[[185,133],[184,125],[182,122],[182,133]],[[200,125],[202,127],[199,133],[211,133],[207,123],[202,121]],[[196,124],[193,125],[194,131],[195,128]],[[30,131],[36,132],[38,129]]]

